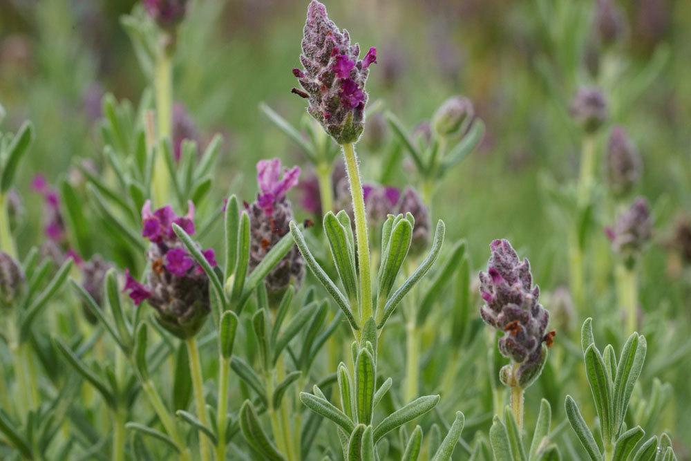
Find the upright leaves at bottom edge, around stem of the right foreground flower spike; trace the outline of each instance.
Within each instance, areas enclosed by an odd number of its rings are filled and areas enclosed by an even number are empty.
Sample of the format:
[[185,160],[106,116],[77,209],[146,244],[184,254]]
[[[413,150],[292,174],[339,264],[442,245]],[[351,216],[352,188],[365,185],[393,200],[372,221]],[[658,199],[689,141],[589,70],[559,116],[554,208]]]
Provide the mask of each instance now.
[[561,460],[561,452],[550,438],[552,409],[547,400],[540,402],[540,413],[529,446],[523,437],[511,408],[504,411],[504,421],[498,416],[489,430],[489,440],[495,461],[556,461]]

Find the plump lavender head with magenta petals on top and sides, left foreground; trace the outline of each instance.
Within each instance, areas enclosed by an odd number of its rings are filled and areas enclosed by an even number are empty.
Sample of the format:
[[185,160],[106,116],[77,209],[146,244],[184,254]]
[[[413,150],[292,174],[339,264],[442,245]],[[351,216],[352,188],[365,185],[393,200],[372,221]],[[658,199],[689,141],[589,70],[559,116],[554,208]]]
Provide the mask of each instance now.
[[[187,234],[194,234],[194,205],[189,203],[186,216],[178,216],[170,206],[151,211],[151,202],[142,208],[142,236],[151,242],[147,259],[151,265],[146,285],[126,271],[124,291],[135,304],[149,301],[156,319],[169,332],[187,338],[202,328],[209,305],[209,279],[184,247],[173,224]],[[209,264],[216,266],[214,250],[202,250]]]

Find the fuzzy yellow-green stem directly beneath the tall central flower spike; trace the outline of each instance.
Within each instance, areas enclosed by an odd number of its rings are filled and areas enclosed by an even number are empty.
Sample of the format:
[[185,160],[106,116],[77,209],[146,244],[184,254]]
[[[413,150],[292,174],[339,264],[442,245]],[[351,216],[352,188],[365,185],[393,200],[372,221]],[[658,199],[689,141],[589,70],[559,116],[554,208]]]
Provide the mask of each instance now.
[[355,216],[355,238],[357,240],[357,262],[360,275],[360,323],[363,325],[372,317],[372,279],[370,277],[370,245],[367,236],[365,199],[362,193],[357,155],[352,143],[343,144],[345,169],[350,181],[353,212]]

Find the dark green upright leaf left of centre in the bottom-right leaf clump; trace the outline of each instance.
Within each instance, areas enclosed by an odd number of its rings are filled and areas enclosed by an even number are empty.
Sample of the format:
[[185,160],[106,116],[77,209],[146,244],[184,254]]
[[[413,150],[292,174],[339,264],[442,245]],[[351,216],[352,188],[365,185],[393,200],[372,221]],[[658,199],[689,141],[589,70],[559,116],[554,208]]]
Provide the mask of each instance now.
[[614,402],[612,401],[612,382],[609,381],[607,371],[605,371],[605,361],[600,355],[600,351],[591,344],[585,350],[585,374],[588,378],[590,390],[595,402],[595,408],[600,417],[600,429],[603,433],[603,442],[609,444],[613,434],[613,411]]

